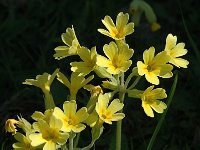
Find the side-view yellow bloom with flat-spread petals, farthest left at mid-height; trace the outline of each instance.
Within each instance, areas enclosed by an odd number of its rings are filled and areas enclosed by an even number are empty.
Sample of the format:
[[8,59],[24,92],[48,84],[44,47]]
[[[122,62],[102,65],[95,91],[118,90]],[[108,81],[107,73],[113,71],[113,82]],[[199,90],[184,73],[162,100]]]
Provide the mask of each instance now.
[[26,79],[25,82],[23,82],[23,84],[34,85],[36,87],[41,88],[43,93],[49,93],[50,86],[54,78],[56,77],[58,71],[59,69],[56,69],[52,75],[45,72],[42,75],[37,75],[36,79]]

